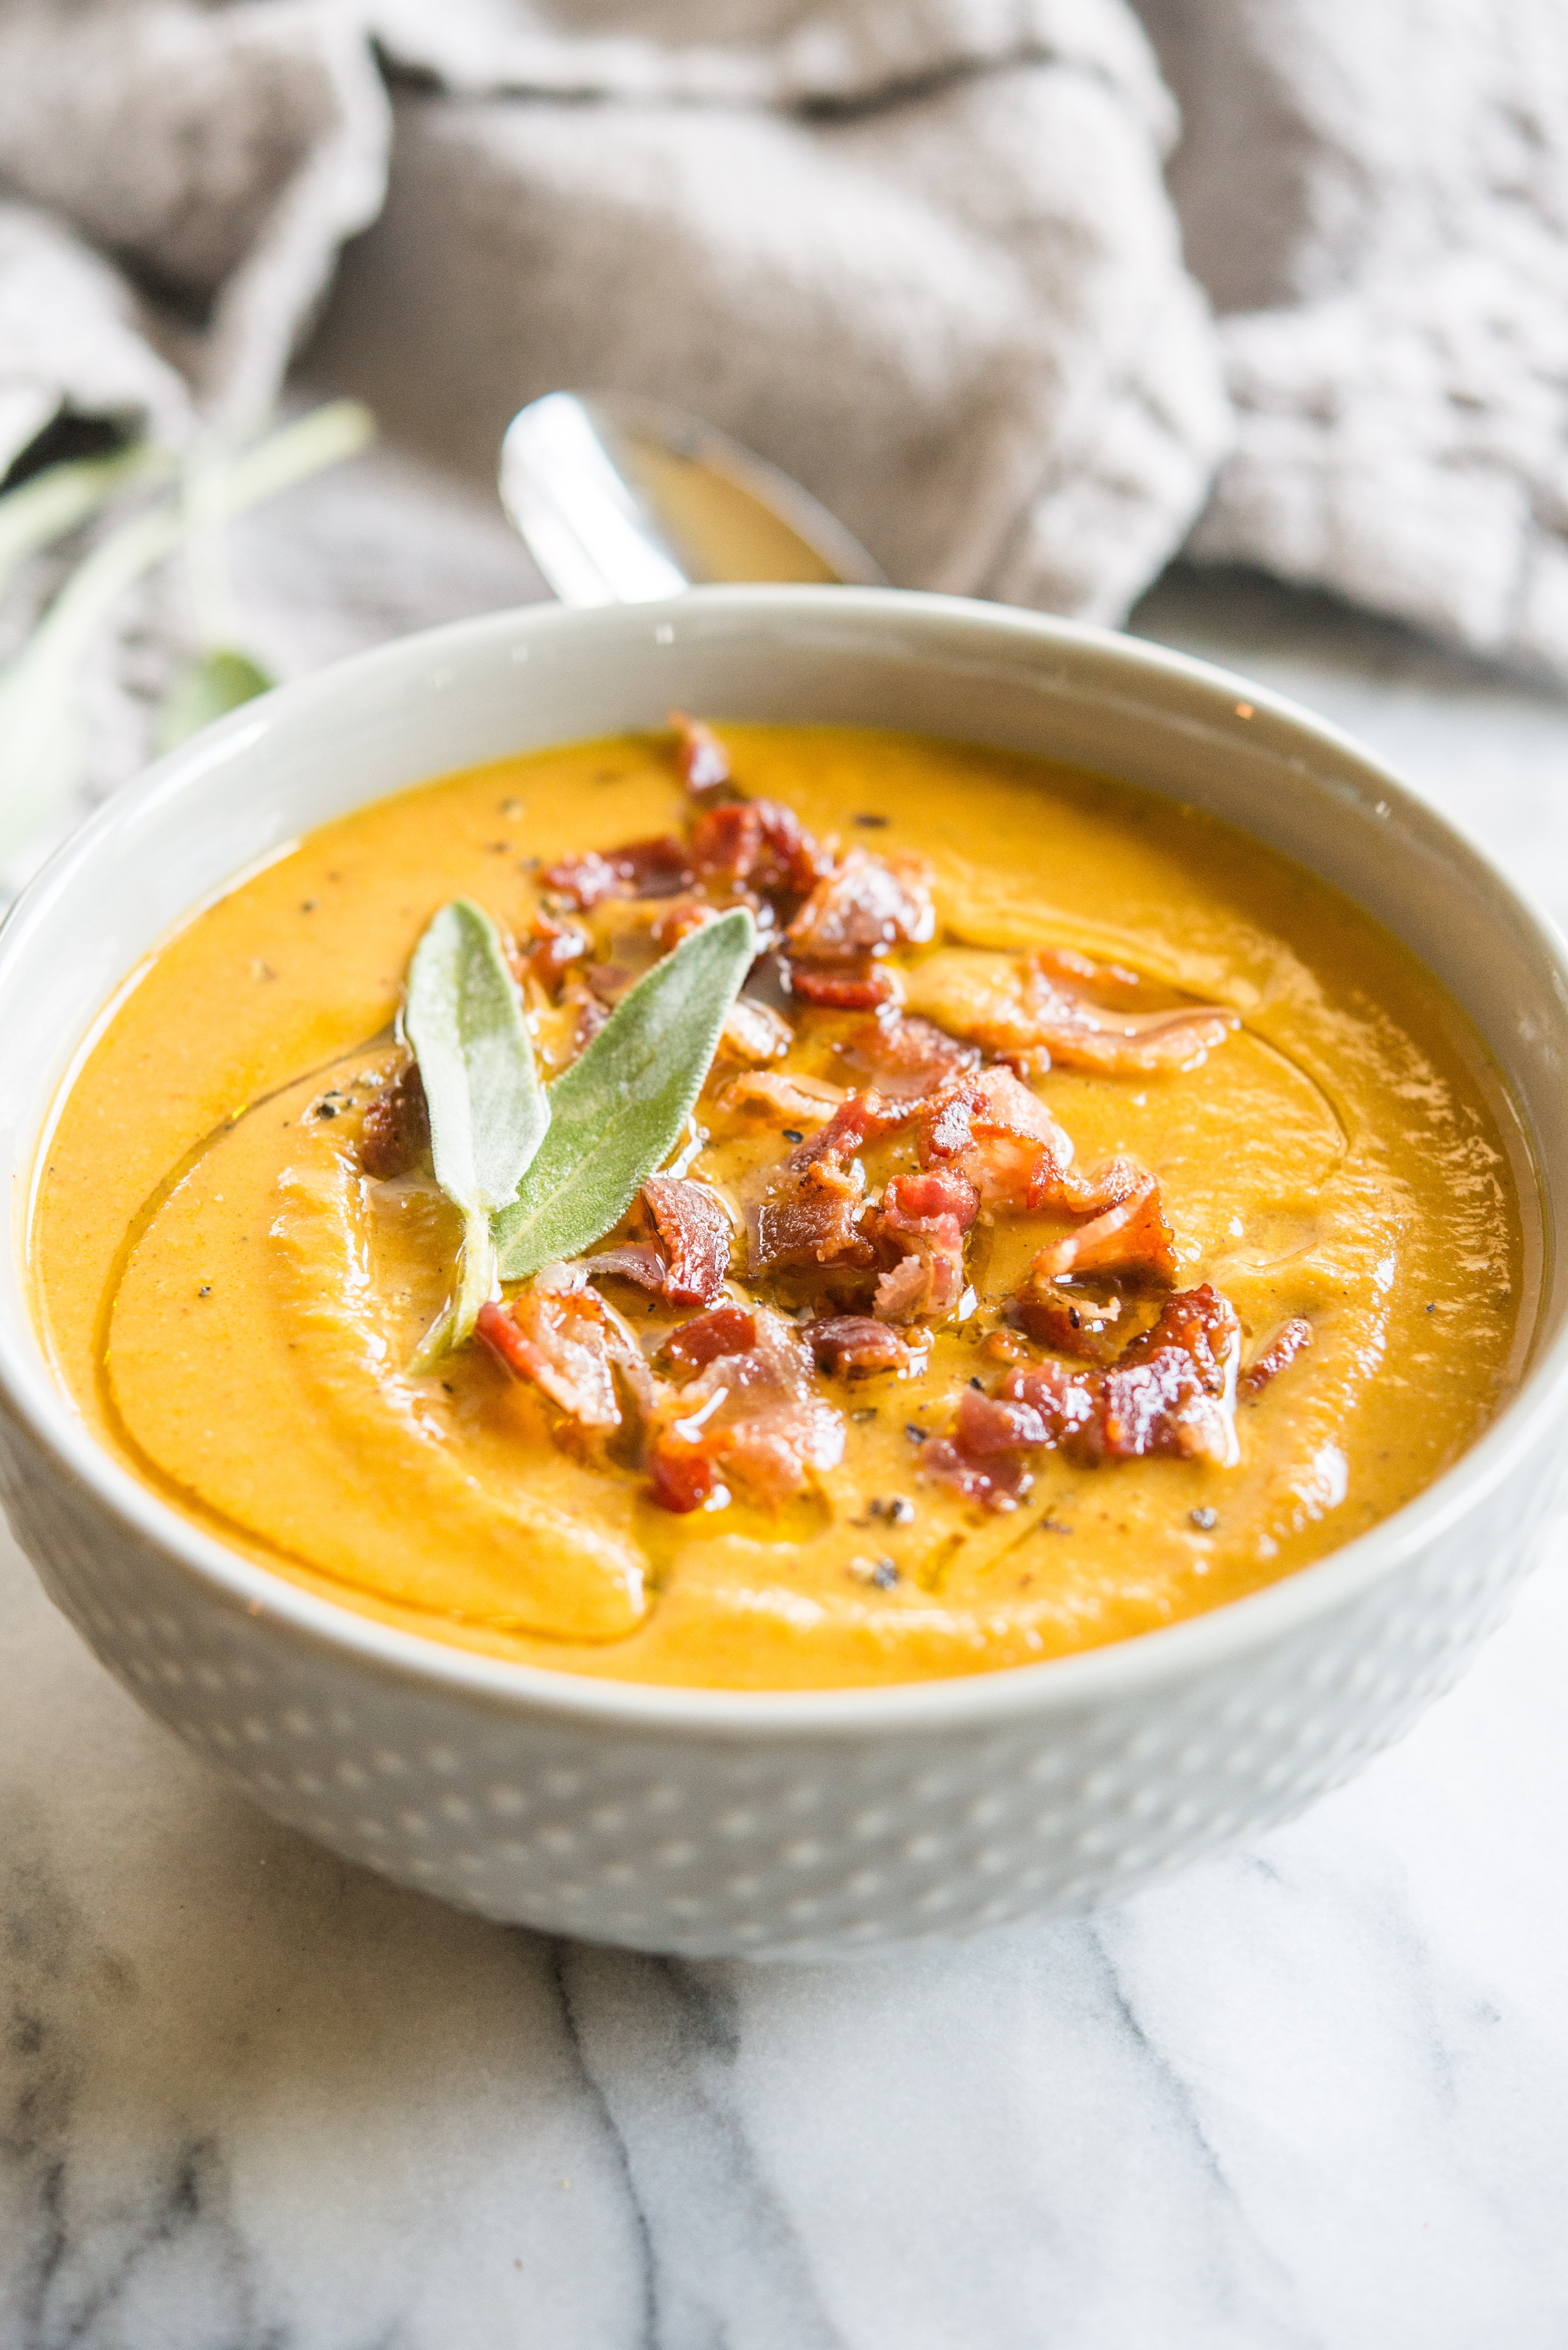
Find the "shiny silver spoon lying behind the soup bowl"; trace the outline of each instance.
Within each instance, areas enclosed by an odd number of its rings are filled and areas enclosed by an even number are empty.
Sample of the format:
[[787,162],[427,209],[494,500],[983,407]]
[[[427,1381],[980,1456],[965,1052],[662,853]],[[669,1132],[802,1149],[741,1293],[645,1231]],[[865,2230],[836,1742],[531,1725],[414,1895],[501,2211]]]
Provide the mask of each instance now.
[[563,604],[718,580],[885,585],[798,482],[660,400],[530,400],[500,444],[500,503]]

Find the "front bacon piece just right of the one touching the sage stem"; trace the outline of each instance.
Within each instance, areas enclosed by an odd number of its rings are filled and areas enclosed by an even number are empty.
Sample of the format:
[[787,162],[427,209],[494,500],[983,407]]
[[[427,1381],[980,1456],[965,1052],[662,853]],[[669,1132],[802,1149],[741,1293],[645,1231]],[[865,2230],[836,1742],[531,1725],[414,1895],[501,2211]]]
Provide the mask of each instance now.
[[796,1325],[768,1307],[737,1321],[751,1323],[751,1344],[711,1356],[660,1403],[650,1473],[664,1509],[697,1509],[730,1483],[758,1502],[789,1502],[812,1469],[843,1457],[843,1417],[817,1394]]

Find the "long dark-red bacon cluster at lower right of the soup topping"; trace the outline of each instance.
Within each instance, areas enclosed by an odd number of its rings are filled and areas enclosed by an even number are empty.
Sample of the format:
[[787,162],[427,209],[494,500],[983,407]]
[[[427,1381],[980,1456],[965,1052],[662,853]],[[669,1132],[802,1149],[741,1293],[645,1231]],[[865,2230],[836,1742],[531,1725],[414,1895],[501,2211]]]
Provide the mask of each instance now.
[[967,1389],[948,1434],[922,1445],[920,1473],[1009,1509],[1028,1483],[1023,1455],[1040,1450],[1084,1464],[1164,1455],[1228,1466],[1239,1337],[1218,1290],[1183,1290],[1110,1370],[1019,1363],[995,1396]]

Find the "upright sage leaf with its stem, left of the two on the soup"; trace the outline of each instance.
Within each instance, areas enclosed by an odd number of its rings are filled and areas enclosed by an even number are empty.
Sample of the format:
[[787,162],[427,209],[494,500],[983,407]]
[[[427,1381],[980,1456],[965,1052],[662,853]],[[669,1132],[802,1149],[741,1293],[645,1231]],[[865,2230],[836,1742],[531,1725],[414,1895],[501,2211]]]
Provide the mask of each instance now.
[[437,1182],[462,1210],[453,1297],[411,1363],[420,1372],[469,1337],[495,1292],[491,1217],[516,1198],[549,1126],[500,933],[472,898],[444,905],[413,949],[404,1034],[425,1083]]

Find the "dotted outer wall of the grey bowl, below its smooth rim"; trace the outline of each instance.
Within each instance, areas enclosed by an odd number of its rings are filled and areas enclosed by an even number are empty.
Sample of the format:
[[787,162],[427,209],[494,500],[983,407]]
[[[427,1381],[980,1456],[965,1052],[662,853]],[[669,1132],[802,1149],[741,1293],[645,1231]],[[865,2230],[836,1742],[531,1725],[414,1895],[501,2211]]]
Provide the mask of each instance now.
[[735,1739],[559,1718],[246,1614],[0,1419],[7,1513],[54,1600],[265,1812],[488,1918],[692,1958],[1084,1911],[1293,1817],[1458,1678],[1561,1478],[1542,1448],[1368,1589],[1136,1692],[981,1727],[758,1720]]

